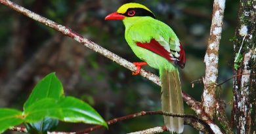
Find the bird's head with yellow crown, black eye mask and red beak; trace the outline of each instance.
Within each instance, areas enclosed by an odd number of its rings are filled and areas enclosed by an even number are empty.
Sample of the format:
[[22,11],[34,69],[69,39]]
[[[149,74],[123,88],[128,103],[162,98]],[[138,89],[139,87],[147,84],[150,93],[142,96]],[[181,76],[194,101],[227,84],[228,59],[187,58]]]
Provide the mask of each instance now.
[[105,20],[125,20],[138,16],[150,16],[152,18],[155,18],[153,12],[144,5],[138,3],[127,3],[119,7],[116,12],[108,14]]

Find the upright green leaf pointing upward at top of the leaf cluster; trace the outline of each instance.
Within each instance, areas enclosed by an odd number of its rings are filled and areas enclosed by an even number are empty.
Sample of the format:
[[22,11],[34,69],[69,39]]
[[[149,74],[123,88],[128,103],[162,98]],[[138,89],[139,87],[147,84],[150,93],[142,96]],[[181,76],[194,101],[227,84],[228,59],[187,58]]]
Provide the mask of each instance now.
[[44,98],[60,99],[64,94],[62,83],[56,77],[55,73],[50,73],[45,76],[40,82],[33,88],[30,97],[24,104],[24,109],[27,109],[30,105]]

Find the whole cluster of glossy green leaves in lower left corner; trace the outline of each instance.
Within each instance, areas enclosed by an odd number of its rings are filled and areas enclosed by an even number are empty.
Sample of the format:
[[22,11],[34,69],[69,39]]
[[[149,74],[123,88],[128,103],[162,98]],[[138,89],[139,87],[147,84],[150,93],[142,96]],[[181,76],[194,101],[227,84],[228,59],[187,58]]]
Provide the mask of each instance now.
[[24,104],[24,111],[0,109],[0,132],[22,123],[30,133],[47,133],[63,122],[83,122],[107,127],[100,114],[75,97],[65,97],[54,73],[43,78]]

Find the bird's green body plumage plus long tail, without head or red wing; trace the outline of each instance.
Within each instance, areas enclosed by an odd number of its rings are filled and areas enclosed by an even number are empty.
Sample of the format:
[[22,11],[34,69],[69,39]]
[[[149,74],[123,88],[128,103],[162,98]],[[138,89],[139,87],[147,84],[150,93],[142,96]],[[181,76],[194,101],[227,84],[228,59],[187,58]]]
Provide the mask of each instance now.
[[[127,17],[123,20],[123,24],[125,25],[125,39],[136,56],[146,61],[150,67],[160,70],[162,110],[183,114],[181,84],[176,65],[136,44],[136,42],[150,42],[151,39],[156,39],[162,46],[169,48],[169,50],[177,51],[179,50],[179,47],[177,47],[179,46],[177,35],[175,35],[171,27],[149,16]],[[171,51],[171,54],[175,55],[175,52]],[[164,120],[169,131],[182,133],[183,118],[164,116]]]

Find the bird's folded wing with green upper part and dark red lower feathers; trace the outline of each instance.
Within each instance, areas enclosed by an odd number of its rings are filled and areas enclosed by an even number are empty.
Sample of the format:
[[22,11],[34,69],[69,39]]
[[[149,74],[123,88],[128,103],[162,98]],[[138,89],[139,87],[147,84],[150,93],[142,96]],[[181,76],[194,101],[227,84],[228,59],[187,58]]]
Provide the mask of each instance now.
[[185,53],[173,29],[168,25],[150,18],[145,18],[127,31],[129,39],[137,46],[162,56],[171,63],[184,68]]

